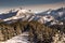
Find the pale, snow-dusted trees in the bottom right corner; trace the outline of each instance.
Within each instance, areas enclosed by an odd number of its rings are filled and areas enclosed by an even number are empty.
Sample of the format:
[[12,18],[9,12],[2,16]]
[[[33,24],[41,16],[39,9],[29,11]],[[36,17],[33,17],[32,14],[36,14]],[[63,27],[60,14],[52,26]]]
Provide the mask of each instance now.
[[56,33],[55,37],[53,37],[52,43],[65,43],[65,33]]

